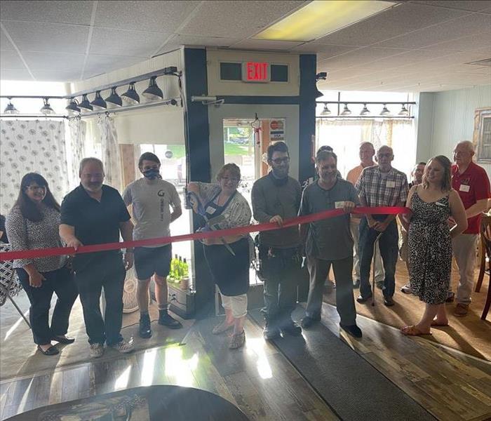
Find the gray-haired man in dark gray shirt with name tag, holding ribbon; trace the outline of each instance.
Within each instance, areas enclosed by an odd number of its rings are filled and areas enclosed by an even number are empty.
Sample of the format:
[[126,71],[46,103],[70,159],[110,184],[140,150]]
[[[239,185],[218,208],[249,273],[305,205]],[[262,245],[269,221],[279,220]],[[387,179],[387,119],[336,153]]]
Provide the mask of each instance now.
[[309,298],[302,328],[309,328],[321,320],[323,283],[332,265],[336,279],[337,312],[341,319],[339,326],[355,338],[361,338],[361,330],[356,326],[353,237],[349,228],[349,212],[359,203],[358,195],[349,181],[337,178],[337,156],[334,152],[319,152],[316,167],[319,179],[304,189],[299,215],[337,208],[347,213],[300,226],[310,273]]

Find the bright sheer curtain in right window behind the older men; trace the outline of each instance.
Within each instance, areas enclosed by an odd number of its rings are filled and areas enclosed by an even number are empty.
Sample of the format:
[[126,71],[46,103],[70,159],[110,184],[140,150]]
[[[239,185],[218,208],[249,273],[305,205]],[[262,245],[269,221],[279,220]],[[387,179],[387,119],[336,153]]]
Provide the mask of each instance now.
[[358,148],[362,142],[371,142],[375,149],[382,145],[392,147],[392,166],[410,174],[416,158],[412,120],[316,119],[316,148],[329,145],[334,149],[337,154],[337,169],[343,177],[360,163]]

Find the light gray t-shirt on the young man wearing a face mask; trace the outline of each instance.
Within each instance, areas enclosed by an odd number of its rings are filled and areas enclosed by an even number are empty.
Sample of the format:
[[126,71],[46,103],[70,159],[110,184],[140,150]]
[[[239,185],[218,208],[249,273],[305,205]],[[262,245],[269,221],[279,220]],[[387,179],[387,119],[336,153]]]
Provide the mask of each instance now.
[[145,178],[140,178],[126,187],[123,200],[126,206],[133,205],[134,240],[170,236],[170,208],[175,210],[181,207],[181,199],[174,185],[166,180],[152,180],[149,183]]

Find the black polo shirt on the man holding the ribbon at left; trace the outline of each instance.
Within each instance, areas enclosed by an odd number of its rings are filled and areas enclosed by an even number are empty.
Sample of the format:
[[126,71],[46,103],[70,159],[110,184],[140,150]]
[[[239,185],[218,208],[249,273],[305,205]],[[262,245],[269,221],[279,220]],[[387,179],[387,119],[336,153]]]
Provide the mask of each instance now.
[[[75,236],[84,246],[119,241],[119,223],[130,220],[130,214],[119,192],[102,185],[102,197],[97,201],[79,185],[62,201],[61,223],[75,228]],[[95,256],[107,257],[119,253],[110,250],[76,255],[74,269],[81,269]]]

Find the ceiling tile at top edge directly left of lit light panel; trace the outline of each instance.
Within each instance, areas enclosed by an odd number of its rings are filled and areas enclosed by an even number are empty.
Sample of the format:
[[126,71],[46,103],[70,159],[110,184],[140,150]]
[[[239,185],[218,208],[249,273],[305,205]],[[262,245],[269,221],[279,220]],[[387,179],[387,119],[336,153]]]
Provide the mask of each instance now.
[[204,1],[180,34],[248,38],[304,1]]

